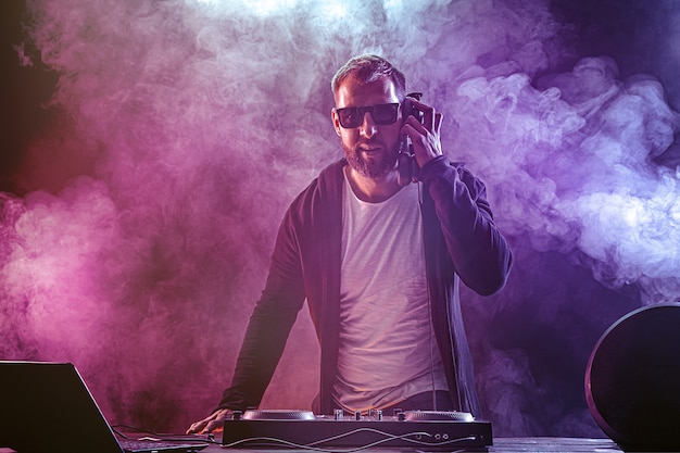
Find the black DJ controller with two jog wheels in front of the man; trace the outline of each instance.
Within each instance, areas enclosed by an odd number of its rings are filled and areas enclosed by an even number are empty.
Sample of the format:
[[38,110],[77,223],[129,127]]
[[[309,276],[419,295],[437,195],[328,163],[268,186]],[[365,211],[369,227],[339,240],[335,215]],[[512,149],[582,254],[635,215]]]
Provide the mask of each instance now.
[[493,444],[491,423],[469,413],[449,411],[380,411],[315,415],[308,411],[235,412],[224,423],[223,445],[234,449],[288,449],[356,452],[392,448],[419,451],[486,452]]

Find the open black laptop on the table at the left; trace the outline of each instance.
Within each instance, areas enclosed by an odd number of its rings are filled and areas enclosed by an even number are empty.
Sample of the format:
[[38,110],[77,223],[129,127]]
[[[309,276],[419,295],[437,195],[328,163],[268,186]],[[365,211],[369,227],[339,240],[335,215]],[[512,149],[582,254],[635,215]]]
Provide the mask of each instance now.
[[18,453],[165,453],[206,446],[190,440],[117,439],[73,364],[0,361],[0,448]]

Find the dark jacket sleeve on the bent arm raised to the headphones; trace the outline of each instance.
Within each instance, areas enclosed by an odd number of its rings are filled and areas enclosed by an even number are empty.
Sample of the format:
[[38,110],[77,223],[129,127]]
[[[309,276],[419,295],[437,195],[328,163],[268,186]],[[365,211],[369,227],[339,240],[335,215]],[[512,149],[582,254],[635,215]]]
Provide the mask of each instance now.
[[433,201],[461,280],[481,295],[499,291],[509,274],[513,255],[493,222],[483,183],[445,156],[428,162],[420,179]]

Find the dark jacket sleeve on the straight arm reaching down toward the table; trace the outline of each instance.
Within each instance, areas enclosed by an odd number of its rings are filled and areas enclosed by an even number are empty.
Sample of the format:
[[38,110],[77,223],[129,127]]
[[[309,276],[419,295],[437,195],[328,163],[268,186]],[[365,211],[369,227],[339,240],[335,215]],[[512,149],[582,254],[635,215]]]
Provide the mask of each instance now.
[[272,380],[304,303],[304,287],[290,210],[278,231],[269,274],[250,317],[231,385],[216,408],[256,407]]

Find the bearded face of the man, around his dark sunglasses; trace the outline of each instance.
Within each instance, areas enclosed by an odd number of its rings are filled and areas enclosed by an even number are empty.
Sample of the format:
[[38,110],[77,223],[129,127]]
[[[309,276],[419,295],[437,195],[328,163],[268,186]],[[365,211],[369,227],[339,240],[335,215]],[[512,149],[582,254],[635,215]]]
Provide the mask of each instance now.
[[[336,93],[336,109],[398,103],[394,84],[381,77],[369,84],[361,84],[354,77],[342,81]],[[340,137],[344,155],[355,171],[369,178],[378,179],[394,171],[400,148],[402,126],[401,109],[396,109],[396,121],[379,125],[370,112],[363,114],[358,127],[342,127],[333,110],[332,122]]]

